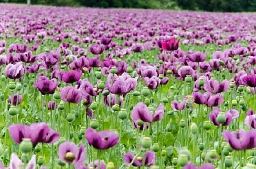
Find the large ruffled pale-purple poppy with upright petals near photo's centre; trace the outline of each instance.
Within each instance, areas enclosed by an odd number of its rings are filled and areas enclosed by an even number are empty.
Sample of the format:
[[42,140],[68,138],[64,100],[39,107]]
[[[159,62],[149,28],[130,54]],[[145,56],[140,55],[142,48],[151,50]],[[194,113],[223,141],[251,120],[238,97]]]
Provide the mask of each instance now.
[[113,94],[125,95],[136,88],[137,80],[138,77],[131,78],[127,73],[123,73],[123,75],[119,77],[117,75],[109,74],[107,87],[109,92]]

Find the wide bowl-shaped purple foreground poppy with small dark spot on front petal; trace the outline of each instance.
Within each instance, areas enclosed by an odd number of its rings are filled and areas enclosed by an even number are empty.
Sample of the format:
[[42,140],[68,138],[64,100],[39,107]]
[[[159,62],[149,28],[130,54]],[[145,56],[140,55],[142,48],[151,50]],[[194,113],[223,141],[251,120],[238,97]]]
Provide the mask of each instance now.
[[119,142],[119,136],[115,131],[100,131],[97,132],[92,128],[85,131],[85,138],[89,145],[95,149],[109,149]]

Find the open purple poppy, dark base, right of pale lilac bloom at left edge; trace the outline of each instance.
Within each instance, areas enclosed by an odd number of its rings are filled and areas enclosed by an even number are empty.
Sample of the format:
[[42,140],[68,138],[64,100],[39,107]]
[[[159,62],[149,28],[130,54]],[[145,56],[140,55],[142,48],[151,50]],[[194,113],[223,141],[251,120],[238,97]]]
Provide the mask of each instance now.
[[37,78],[34,86],[42,94],[53,94],[58,87],[58,82],[55,78],[49,80],[48,77],[40,76]]

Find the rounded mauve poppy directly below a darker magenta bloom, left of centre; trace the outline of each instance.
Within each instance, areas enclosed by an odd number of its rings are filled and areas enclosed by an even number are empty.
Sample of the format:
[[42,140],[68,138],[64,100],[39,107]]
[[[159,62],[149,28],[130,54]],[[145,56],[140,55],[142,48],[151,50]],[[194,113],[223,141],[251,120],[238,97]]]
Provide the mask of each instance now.
[[61,88],[60,94],[63,101],[70,103],[79,103],[82,99],[81,92],[71,85]]

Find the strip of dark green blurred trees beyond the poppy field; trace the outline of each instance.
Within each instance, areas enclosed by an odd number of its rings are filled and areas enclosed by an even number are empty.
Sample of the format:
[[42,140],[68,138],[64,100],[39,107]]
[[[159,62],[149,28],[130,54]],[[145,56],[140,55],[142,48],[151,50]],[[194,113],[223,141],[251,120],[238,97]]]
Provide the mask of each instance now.
[[256,0],[0,0],[0,2],[99,8],[256,11]]

